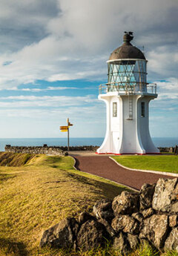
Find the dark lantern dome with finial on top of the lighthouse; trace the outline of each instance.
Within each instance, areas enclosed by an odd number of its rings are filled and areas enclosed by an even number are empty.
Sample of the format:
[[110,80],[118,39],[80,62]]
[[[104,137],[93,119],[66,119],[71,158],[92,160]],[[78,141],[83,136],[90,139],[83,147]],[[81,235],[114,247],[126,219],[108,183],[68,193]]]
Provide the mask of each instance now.
[[109,58],[109,61],[115,59],[145,59],[145,56],[142,53],[142,51],[136,48],[135,46],[131,45],[132,39],[133,33],[125,32],[125,35],[123,36],[123,44],[120,47],[113,50]]

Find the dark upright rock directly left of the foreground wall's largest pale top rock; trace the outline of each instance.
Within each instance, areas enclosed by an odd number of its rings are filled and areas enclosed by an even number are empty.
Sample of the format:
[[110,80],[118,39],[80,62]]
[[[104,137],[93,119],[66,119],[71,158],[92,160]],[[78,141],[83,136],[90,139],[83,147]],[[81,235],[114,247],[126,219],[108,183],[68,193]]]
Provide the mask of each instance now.
[[152,207],[154,189],[156,184],[143,184],[139,192],[139,206],[141,210]]

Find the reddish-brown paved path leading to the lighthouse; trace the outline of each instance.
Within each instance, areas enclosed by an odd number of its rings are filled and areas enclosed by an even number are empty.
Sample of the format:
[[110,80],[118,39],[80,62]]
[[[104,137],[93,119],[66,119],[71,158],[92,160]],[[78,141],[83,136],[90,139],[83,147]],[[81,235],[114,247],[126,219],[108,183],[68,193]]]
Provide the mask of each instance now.
[[100,177],[113,180],[131,188],[140,189],[144,183],[156,183],[162,178],[174,179],[168,175],[152,174],[142,171],[131,171],[114,163],[108,156],[99,156],[93,154],[75,154],[70,155],[76,159],[76,168],[90,174],[96,174]]

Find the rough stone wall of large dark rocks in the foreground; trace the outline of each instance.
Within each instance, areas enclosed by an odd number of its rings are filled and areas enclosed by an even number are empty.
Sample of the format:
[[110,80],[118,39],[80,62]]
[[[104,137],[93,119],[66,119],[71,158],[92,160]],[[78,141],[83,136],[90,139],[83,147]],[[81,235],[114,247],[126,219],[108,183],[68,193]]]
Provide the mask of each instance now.
[[40,246],[87,251],[105,246],[106,240],[122,253],[145,240],[178,252],[178,179],[159,179],[139,193],[122,191],[113,201],[99,200],[92,214],[82,212],[44,231]]

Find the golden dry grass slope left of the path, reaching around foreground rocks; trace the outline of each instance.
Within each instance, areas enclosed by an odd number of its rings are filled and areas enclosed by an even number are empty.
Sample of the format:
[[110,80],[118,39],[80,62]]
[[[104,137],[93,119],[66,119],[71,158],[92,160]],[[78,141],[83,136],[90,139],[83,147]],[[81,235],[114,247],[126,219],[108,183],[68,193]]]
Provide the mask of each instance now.
[[[39,249],[42,232],[65,217],[91,211],[96,200],[113,199],[124,186],[76,171],[71,157],[6,153],[9,166],[0,167],[1,256],[104,256],[121,255],[111,246],[90,252]],[[1,163],[4,153],[0,153]],[[21,166],[19,166],[21,163]],[[13,165],[13,166],[10,166]],[[160,252],[140,246],[130,256],[154,256]],[[168,252],[164,256],[176,256]],[[162,256],[163,256],[162,255]]]

